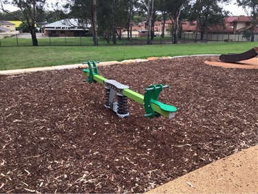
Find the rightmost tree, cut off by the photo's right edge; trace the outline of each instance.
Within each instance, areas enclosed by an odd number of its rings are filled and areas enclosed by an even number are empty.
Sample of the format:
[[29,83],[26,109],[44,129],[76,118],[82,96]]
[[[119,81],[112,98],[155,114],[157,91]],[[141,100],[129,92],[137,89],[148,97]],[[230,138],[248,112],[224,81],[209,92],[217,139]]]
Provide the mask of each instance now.
[[237,0],[237,6],[242,7],[251,20],[252,30],[250,41],[255,41],[255,27],[258,24],[258,0]]

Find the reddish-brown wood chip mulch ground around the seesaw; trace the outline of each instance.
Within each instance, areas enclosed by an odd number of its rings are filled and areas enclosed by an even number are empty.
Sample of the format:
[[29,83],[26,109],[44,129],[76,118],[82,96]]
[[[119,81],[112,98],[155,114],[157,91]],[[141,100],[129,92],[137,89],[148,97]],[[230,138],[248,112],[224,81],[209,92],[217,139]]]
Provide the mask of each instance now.
[[258,143],[258,70],[195,56],[99,67],[144,94],[169,84],[175,118],[105,109],[82,69],[0,76],[0,193],[143,193]]

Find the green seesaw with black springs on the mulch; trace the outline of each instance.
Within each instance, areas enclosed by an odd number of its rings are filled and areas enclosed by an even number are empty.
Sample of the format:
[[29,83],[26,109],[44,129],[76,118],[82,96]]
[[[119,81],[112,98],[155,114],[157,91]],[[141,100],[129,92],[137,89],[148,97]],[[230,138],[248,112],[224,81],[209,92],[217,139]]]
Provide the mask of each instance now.
[[[88,69],[83,69],[84,74],[87,76],[87,80],[84,82],[101,83],[105,85],[105,107],[116,112],[118,117],[124,118],[129,116],[128,101],[127,98],[131,98],[136,102],[144,105],[146,114],[144,117],[153,118],[160,115],[167,118],[174,118],[176,107],[166,105],[158,101],[158,95],[164,88],[168,88],[169,85],[150,85],[145,89],[144,96],[138,94],[136,91],[129,89],[129,86],[118,83],[116,80],[108,80],[103,76],[98,75],[98,67],[95,61],[87,61],[83,64],[89,66]],[[117,96],[117,101],[115,97]]]

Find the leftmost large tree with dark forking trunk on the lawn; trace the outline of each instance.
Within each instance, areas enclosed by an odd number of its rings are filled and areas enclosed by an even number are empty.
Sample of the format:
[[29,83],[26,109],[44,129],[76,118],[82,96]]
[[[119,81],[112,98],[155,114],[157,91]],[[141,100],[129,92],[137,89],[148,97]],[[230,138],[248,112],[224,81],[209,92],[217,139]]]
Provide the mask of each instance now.
[[[44,10],[44,6],[46,5],[45,0],[0,0],[1,8],[3,12],[12,15],[14,18],[21,21],[24,25],[28,27],[30,30],[30,34],[32,35],[32,45],[37,46],[38,40],[36,39],[36,21],[38,21],[39,16],[42,14]],[[15,6],[21,10],[23,17],[21,18],[16,14],[12,14],[4,8],[4,4],[10,4]]]

